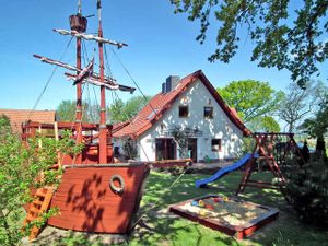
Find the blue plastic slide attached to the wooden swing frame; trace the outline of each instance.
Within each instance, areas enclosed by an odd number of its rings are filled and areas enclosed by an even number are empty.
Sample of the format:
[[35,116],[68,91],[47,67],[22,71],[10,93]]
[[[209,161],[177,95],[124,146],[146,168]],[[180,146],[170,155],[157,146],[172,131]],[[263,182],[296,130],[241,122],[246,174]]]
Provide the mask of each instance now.
[[[257,155],[257,154],[255,154],[255,155]],[[204,185],[207,185],[209,183],[218,180],[224,174],[227,174],[227,173],[230,173],[232,171],[238,169],[241,166],[245,165],[250,157],[251,157],[251,153],[247,153],[241,160],[238,160],[237,162],[235,162],[235,163],[233,163],[233,164],[231,164],[229,166],[225,166],[225,167],[222,167],[221,169],[219,169],[213,176],[211,176],[209,178],[196,180],[195,181],[196,187],[197,188],[201,188],[201,187],[203,187]]]

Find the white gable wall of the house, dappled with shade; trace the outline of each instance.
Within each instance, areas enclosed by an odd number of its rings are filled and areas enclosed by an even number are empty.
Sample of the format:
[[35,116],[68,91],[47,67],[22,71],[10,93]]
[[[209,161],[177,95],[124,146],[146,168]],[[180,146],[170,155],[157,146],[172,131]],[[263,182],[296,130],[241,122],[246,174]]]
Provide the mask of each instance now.
[[[179,118],[179,105],[189,106],[189,117]],[[204,106],[213,107],[213,119],[204,119]],[[165,131],[174,126],[179,126],[181,129],[186,127],[198,128],[202,132],[201,136],[197,137],[198,161],[204,160],[206,156],[211,160],[232,159],[241,152],[242,131],[227,118],[208,89],[199,80],[192,83],[164,113],[163,117],[138,139],[140,161],[155,160],[155,139],[169,137],[165,134]],[[212,151],[211,143],[214,138],[222,141],[220,152]],[[178,151],[177,157],[180,157]]]

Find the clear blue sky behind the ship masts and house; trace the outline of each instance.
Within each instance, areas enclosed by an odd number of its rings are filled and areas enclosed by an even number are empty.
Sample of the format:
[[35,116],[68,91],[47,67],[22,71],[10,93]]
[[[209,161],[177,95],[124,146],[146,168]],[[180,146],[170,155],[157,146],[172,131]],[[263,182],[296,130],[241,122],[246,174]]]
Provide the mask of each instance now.
[[[70,38],[54,33],[52,28],[69,30],[68,17],[77,12],[78,0],[0,2],[0,108],[30,109],[54,70],[32,55],[59,59]],[[96,13],[95,2],[82,0],[84,15]],[[210,63],[207,58],[215,48],[215,23],[206,44],[199,45],[195,40],[199,23],[173,12],[168,0],[103,0],[104,36],[129,44],[127,48],[114,49],[144,94],[156,94],[169,74],[185,77],[199,69],[215,87],[233,80],[255,79],[269,82],[276,90],[284,90],[291,82],[288,71],[258,68],[250,62],[251,42],[247,38],[229,65]],[[96,17],[91,17],[89,33],[94,32]],[[94,43],[86,44],[90,50],[94,46]],[[133,86],[109,47],[107,50],[113,75],[122,84]],[[74,65],[74,42],[63,61]],[[63,72],[63,69],[56,71],[37,109],[56,109],[62,99],[75,97],[75,89],[65,79]],[[319,79],[327,83],[327,69]],[[98,92],[98,87],[95,91]],[[140,95],[139,92],[134,94]],[[107,102],[113,102],[109,92],[107,95]],[[124,99],[131,96],[118,95]],[[92,89],[84,93],[84,98],[95,101]]]

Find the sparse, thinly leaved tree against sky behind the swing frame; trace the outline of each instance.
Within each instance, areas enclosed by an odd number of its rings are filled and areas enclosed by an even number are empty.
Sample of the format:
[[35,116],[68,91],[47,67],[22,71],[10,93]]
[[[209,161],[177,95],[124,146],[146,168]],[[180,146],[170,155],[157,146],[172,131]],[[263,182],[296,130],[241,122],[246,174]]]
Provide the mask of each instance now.
[[279,117],[286,122],[288,132],[293,132],[297,122],[313,109],[316,101],[314,86],[301,89],[296,84],[290,84],[278,110]]

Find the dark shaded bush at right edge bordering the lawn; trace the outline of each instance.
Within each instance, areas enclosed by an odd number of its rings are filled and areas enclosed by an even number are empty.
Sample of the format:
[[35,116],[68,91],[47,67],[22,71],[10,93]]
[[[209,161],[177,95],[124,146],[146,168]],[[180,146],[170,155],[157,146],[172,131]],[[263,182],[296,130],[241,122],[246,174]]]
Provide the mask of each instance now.
[[284,171],[286,188],[284,195],[300,218],[316,226],[328,229],[328,162],[314,157],[298,166],[297,161],[289,162]]

